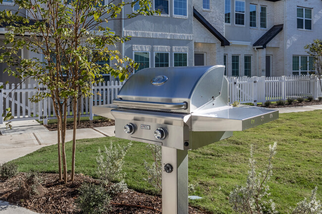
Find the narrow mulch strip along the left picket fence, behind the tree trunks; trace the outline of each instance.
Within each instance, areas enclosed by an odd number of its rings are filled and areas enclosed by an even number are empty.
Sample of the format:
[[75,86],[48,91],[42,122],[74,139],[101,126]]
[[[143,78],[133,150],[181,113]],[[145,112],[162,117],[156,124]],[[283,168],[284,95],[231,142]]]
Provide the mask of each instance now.
[[[67,129],[73,129],[74,123],[73,122],[67,122]],[[97,119],[93,121],[81,121],[80,124],[77,126],[77,128],[95,128],[95,127],[108,127],[108,126],[114,126],[114,120],[111,119]],[[56,131],[57,130],[57,124],[48,124],[44,125],[46,128],[48,128],[50,131]]]

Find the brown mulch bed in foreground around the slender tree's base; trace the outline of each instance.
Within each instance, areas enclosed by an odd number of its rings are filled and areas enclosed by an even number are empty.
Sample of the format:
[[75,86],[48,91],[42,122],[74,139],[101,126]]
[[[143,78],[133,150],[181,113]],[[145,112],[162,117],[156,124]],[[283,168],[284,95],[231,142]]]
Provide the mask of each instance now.
[[[17,193],[21,189],[21,183],[26,180],[26,173],[4,181],[0,180],[0,200],[11,204],[20,205],[29,210],[43,214],[80,214],[74,201],[79,193],[78,188],[83,182],[98,184],[99,181],[83,174],[76,174],[74,182],[66,185],[58,181],[58,175],[52,173],[40,174],[44,189],[42,196],[21,198]],[[109,214],[161,214],[162,199],[160,196],[151,196],[128,189],[115,195],[111,199],[111,211]],[[189,214],[210,214],[189,207]]]

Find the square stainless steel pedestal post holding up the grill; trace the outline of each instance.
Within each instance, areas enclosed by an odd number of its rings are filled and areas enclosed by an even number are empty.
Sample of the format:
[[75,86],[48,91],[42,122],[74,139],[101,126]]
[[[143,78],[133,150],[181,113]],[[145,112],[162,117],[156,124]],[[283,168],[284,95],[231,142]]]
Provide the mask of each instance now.
[[188,150],[162,146],[162,214],[188,214]]

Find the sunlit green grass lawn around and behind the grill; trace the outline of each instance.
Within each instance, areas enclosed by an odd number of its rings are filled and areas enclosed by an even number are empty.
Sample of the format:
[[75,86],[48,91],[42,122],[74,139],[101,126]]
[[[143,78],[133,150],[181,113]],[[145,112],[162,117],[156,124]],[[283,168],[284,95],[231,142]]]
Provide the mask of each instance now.
[[[266,165],[268,145],[277,142],[273,159],[271,198],[277,210],[287,213],[290,206],[309,197],[318,186],[318,199],[322,199],[322,110],[280,114],[280,119],[257,128],[234,132],[234,136],[195,151],[189,151],[189,183],[196,186],[194,195],[202,200],[189,201],[196,207],[214,214],[232,213],[227,197],[236,185],[244,185],[248,171],[250,144],[259,170]],[[96,177],[97,150],[110,142],[125,145],[128,141],[114,137],[82,139],[77,141],[76,173]],[[56,146],[44,147],[14,162],[20,171],[31,169],[57,172]],[[67,156],[71,156],[71,143],[67,143]],[[151,159],[144,143],[134,143],[126,156],[124,171],[126,183],[132,189],[155,194],[143,180],[147,176],[143,160]],[[68,168],[70,169],[70,159]]]

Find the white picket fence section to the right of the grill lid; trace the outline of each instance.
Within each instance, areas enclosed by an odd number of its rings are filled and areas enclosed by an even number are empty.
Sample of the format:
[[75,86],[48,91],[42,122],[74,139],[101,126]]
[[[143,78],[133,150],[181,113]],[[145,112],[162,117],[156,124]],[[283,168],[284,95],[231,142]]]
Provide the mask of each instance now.
[[322,96],[317,76],[228,77],[229,103],[254,103],[267,100]]

